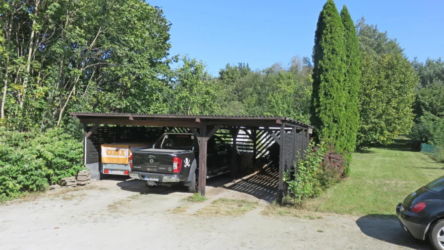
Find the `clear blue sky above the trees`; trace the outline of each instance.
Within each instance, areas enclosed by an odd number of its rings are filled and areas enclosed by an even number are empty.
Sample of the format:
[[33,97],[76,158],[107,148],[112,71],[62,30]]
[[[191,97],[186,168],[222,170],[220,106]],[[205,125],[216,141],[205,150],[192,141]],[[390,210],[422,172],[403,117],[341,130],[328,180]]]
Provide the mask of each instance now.
[[[263,69],[311,57],[326,0],[151,0],[172,23],[171,55],[188,54],[217,75],[226,63]],[[335,0],[396,38],[409,59],[444,58],[444,0]]]

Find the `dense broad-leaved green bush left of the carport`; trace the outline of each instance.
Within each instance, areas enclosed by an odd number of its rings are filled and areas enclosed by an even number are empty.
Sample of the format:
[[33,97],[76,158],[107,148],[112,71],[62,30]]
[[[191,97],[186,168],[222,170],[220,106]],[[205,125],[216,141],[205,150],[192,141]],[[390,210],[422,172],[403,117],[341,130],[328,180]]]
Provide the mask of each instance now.
[[82,143],[59,129],[15,132],[0,129],[0,200],[49,184],[82,170]]

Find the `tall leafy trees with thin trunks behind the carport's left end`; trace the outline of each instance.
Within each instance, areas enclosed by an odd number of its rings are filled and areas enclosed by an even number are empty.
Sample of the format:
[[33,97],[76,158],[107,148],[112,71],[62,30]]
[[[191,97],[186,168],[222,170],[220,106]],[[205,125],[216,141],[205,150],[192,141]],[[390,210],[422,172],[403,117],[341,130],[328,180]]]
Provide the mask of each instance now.
[[[170,23],[140,0],[6,0],[2,118],[68,127],[69,111],[166,113]],[[129,11],[130,10],[130,11]]]

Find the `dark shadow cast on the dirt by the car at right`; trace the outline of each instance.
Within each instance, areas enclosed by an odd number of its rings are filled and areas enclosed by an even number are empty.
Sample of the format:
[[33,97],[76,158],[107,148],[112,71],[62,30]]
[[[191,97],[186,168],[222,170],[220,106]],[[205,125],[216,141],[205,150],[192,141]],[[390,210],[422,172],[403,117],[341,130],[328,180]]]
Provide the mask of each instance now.
[[405,232],[394,215],[366,215],[356,224],[365,235],[377,240],[417,250],[432,250],[428,241],[417,240]]

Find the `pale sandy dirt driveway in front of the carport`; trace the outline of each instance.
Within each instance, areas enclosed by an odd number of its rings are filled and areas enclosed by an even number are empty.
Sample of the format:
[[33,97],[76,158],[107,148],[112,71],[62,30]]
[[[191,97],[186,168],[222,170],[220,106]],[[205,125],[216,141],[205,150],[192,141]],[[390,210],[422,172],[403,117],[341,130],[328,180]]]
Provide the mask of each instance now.
[[[200,203],[186,200],[184,187],[149,188],[132,179],[15,200],[0,205],[0,249],[431,249],[393,217],[263,215],[275,189],[255,178],[209,180],[209,199]],[[199,212],[219,198],[256,205],[237,216]]]

